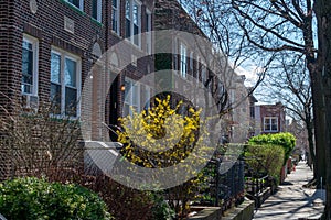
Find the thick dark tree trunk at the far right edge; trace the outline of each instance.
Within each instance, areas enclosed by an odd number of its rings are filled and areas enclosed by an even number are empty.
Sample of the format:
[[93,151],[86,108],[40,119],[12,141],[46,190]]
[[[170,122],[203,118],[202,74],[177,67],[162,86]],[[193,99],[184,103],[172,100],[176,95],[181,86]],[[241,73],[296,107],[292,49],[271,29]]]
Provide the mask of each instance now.
[[325,145],[324,154],[327,162],[327,202],[324,219],[331,219],[331,1],[317,0],[314,12],[318,23],[318,62],[321,67],[323,103],[325,106]]

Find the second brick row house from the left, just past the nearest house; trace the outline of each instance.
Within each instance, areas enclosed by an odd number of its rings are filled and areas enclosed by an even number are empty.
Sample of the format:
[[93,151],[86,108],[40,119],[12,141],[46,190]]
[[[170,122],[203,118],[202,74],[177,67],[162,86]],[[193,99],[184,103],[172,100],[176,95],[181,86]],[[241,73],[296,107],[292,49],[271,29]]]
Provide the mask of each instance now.
[[[183,92],[188,99],[204,107],[207,107],[205,106],[209,105],[207,102],[212,102],[209,99],[225,99],[225,87],[217,75],[220,73],[215,72],[217,69],[215,67],[220,67],[216,58],[221,56],[221,53],[213,48],[207,36],[177,0],[156,1],[154,30],[173,31],[173,34],[167,37],[167,43],[161,41],[170,48],[168,54],[156,54],[156,70],[167,69],[173,74],[172,78],[167,79],[167,85],[161,86]],[[156,42],[158,40],[156,38]],[[207,89],[211,96],[199,97],[201,92],[192,89],[197,87]],[[223,102],[216,105],[221,111]]]

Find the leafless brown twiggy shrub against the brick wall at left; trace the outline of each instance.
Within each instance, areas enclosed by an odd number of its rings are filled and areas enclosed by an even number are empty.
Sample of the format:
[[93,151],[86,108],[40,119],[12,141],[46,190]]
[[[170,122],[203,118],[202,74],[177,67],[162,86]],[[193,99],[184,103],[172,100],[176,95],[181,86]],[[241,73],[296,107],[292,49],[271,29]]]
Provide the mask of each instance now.
[[83,167],[78,119],[55,116],[50,103],[40,103],[38,109],[26,109],[19,101],[10,103],[11,108],[1,107],[2,170],[10,177],[46,176],[61,182],[78,176]]

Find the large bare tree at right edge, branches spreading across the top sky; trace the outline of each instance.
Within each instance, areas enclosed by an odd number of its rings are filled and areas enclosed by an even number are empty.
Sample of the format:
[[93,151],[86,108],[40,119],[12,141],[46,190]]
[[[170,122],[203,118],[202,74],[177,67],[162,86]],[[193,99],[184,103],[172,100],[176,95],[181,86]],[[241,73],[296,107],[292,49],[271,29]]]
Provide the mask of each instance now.
[[[202,20],[212,21],[207,22],[206,30],[224,25],[226,30],[237,32],[237,35],[231,32],[226,35],[224,32],[225,35],[222,36],[225,36],[228,42],[236,38],[233,41],[238,47],[250,47],[252,51],[247,53],[250,57],[255,58],[258,54],[264,56],[268,52],[275,54],[286,51],[305,56],[311,78],[317,161],[327,163],[327,169],[318,163],[318,170],[328,170],[331,167],[331,114],[327,113],[331,112],[331,2],[327,0],[202,0],[193,3],[186,0],[185,6],[189,4],[188,2],[193,6],[192,14],[200,14],[203,16]],[[190,7],[188,8],[190,10]],[[244,57],[247,57],[247,54]],[[328,191],[325,216],[331,219],[329,211],[331,174],[325,174]]]

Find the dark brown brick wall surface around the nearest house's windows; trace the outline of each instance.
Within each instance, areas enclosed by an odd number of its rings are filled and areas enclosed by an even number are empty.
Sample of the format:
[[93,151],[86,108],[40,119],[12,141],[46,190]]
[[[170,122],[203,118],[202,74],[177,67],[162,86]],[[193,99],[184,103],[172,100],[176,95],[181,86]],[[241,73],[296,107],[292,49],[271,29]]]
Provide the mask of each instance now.
[[[96,62],[92,55],[95,43],[98,43],[102,53],[105,53],[110,46],[125,36],[125,0],[120,0],[120,36],[111,32],[111,1],[103,0],[103,20],[102,23],[92,19],[92,6],[89,0],[84,0],[84,10],[75,9],[64,0],[36,0],[38,10],[33,13],[30,9],[30,1],[25,0],[3,0],[0,4],[0,105],[9,103],[6,97],[14,100],[21,98],[21,78],[22,78],[22,38],[23,34],[31,35],[39,41],[39,84],[38,95],[40,101],[49,101],[50,99],[50,70],[51,70],[51,48],[57,48],[77,55],[82,59],[82,82],[90,72]],[[145,8],[153,10],[153,1],[142,1],[142,19],[141,28],[145,23]],[[74,33],[64,29],[64,21],[68,18],[74,22]],[[126,48],[122,48],[126,51]],[[120,52],[118,52],[120,53]],[[140,50],[130,51],[130,53],[140,53]],[[129,54],[130,54],[129,53]],[[137,67],[130,66],[119,76],[119,81],[115,86],[113,92],[116,92],[114,100],[107,96],[106,102],[100,103],[100,117],[105,117],[108,123],[111,117],[121,116],[121,105],[124,92],[119,90],[119,86],[124,82],[124,76],[136,79],[141,78],[147,73],[148,64],[153,72],[153,56],[138,61]],[[104,69],[105,75],[96,77],[108,77],[109,69]],[[97,87],[100,87],[104,78],[98,78]],[[83,85],[82,85],[83,87]],[[102,88],[102,87],[100,87]],[[102,91],[108,91],[109,88],[103,88]],[[99,91],[98,91],[99,92]],[[117,102],[117,110],[110,111]],[[104,107],[104,108],[103,108]],[[85,107],[82,107],[85,108]],[[106,109],[106,112],[105,112]],[[92,110],[92,108],[89,109]],[[116,116],[110,116],[116,112]],[[105,129],[105,128],[104,128]],[[1,162],[0,162],[1,163]],[[4,174],[3,174],[4,175]]]

